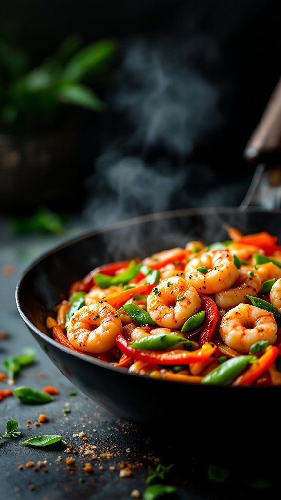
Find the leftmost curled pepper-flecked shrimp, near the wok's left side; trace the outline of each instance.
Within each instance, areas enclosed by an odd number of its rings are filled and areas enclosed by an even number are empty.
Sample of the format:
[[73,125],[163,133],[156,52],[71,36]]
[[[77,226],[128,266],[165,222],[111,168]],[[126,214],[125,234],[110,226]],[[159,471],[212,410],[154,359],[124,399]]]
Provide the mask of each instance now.
[[116,310],[106,302],[84,305],[71,317],[66,335],[78,350],[103,352],[115,345],[122,332],[122,323]]

